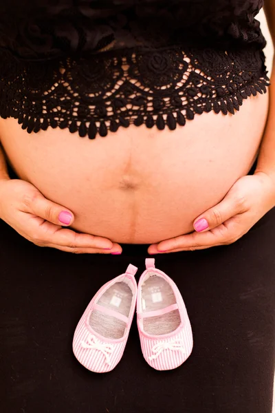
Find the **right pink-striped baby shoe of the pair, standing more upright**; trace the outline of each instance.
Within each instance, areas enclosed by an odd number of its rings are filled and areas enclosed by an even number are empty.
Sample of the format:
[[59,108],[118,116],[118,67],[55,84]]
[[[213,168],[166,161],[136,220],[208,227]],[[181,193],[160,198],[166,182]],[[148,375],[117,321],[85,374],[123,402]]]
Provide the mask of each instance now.
[[175,282],[146,258],[137,286],[137,327],[142,354],[156,370],[173,370],[190,356],[192,329]]

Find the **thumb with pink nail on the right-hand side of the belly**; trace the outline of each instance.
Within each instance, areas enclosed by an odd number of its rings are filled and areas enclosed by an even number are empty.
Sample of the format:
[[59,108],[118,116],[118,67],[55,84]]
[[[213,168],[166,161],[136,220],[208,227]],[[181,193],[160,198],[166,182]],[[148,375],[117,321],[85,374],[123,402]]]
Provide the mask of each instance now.
[[226,197],[219,204],[203,212],[195,219],[194,228],[197,232],[208,231],[221,225],[237,213],[240,213],[238,202],[234,202],[231,197]]

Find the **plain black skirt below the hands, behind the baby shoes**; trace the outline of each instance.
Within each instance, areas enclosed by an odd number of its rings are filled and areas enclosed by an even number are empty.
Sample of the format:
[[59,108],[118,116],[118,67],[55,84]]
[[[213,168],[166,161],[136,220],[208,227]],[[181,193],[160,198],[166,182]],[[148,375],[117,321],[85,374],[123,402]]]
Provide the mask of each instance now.
[[[253,171],[250,171],[253,173]],[[72,352],[96,291],[148,245],[122,255],[35,246],[0,221],[0,410],[3,413],[271,413],[275,361],[275,209],[240,240],[155,255],[188,310],[194,348],[179,368],[153,370],[136,320],[122,360],[89,372]]]

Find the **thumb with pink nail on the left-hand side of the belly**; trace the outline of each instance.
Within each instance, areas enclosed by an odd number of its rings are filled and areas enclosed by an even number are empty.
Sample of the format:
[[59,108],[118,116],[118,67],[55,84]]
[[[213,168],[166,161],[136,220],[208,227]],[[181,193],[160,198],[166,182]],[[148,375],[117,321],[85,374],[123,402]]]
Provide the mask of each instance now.
[[32,213],[56,225],[67,226],[74,222],[74,214],[69,209],[47,200],[38,193],[32,203]]

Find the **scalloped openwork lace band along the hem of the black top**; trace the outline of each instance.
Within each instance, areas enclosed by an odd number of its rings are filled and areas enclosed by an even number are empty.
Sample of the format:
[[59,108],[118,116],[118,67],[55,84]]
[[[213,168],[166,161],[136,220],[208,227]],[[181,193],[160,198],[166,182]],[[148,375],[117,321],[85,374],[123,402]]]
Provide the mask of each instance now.
[[270,85],[262,50],[169,47],[113,50],[87,58],[23,61],[0,51],[0,116],[28,133],[48,127],[90,139],[119,127],[184,126],[224,115]]

